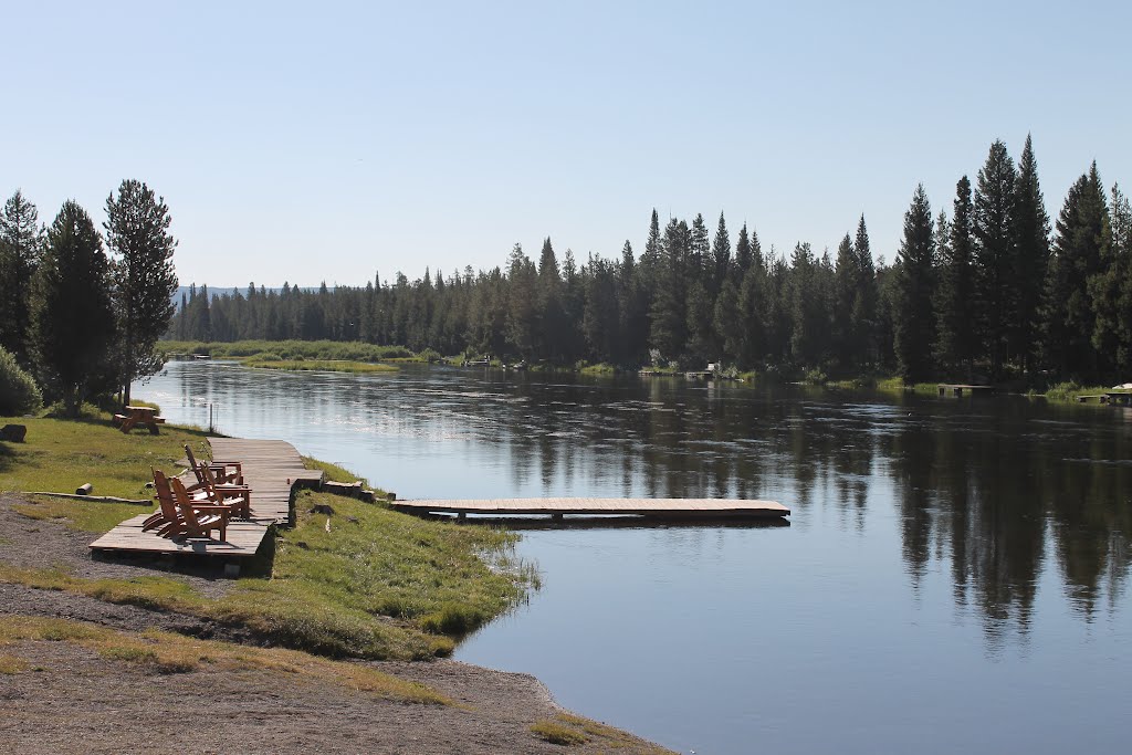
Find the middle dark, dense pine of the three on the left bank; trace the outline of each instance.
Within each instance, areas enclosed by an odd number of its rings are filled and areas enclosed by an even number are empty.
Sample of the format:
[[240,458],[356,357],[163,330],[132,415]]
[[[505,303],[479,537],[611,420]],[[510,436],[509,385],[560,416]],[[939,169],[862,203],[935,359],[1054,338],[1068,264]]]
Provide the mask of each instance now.
[[33,281],[34,346],[44,384],[77,415],[83,401],[114,383],[110,263],[89,215],[63,204],[48,230]]

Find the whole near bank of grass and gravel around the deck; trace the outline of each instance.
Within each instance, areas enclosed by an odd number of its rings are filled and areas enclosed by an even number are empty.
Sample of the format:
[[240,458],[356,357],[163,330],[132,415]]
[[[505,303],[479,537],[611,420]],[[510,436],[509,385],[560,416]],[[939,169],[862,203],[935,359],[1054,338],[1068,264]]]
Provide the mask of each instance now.
[[[91,478],[96,492],[147,498],[140,472],[172,464],[179,441],[203,436],[19,421],[28,438],[0,444],[0,489],[66,489]],[[316,506],[333,509],[329,532]],[[241,752],[538,753],[560,750],[546,740],[559,729],[584,738],[578,752],[664,752],[569,717],[532,677],[436,660],[524,594],[533,573],[507,564],[514,535],[305,492],[298,525],[280,533],[259,576],[92,559],[93,533],[139,508],[0,495],[0,738],[17,752],[177,741]],[[492,555],[494,568],[479,552]],[[198,713],[211,724],[186,727],[183,697],[201,688],[213,709]],[[140,710],[145,717],[132,713]]]

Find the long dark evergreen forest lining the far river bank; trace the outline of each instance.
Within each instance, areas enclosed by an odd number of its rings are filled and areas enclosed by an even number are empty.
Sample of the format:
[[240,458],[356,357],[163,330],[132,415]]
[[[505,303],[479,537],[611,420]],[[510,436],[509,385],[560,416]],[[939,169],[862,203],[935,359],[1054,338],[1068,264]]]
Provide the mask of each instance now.
[[1096,164],[1050,223],[1029,137],[1019,160],[995,141],[975,175],[933,208],[918,187],[891,264],[861,216],[831,252],[763,249],[720,214],[666,223],[642,254],[538,258],[365,286],[249,285],[182,297],[185,341],[362,341],[551,364],[867,376],[908,381],[1122,379],[1132,367],[1132,211]]

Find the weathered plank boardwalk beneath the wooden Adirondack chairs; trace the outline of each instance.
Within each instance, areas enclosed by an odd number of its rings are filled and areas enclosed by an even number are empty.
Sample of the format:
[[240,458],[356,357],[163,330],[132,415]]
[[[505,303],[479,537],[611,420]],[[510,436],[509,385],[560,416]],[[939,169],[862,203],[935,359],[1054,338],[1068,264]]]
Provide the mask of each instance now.
[[243,440],[212,438],[213,457],[238,461],[243,465],[243,480],[251,488],[251,518],[233,520],[228,540],[182,540],[175,542],[153,532],[143,532],[148,514],[127,520],[91,543],[96,551],[132,551],[147,554],[200,554],[223,558],[255,556],[273,524],[291,523],[291,488],[317,487],[323,480],[319,470],[308,470],[294,446],[283,440]]

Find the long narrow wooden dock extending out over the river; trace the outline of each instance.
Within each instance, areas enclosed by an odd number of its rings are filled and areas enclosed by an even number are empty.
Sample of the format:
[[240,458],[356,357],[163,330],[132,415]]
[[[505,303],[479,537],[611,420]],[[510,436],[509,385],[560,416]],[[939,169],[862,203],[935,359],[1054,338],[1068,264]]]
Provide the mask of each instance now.
[[773,500],[724,498],[492,498],[489,500],[396,500],[391,506],[409,514],[542,514],[563,516],[645,516],[658,518],[778,517],[790,509]]

